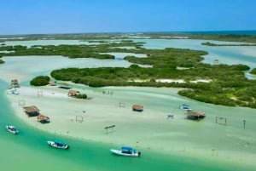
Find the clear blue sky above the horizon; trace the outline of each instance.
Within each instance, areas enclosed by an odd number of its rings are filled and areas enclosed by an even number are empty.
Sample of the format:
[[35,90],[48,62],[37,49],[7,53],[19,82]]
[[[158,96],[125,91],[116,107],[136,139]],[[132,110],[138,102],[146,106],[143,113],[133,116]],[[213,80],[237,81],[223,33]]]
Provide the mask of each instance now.
[[256,0],[0,0],[0,35],[256,30]]

